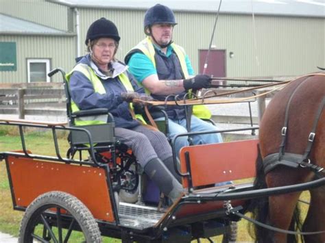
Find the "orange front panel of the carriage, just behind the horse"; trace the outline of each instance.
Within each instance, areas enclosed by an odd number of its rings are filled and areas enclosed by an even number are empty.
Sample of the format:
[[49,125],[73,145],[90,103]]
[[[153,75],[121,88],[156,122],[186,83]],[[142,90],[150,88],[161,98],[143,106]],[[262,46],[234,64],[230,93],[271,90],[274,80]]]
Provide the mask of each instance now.
[[[183,186],[207,186],[255,176],[258,140],[185,146],[180,150]],[[191,185],[189,185],[191,183]]]

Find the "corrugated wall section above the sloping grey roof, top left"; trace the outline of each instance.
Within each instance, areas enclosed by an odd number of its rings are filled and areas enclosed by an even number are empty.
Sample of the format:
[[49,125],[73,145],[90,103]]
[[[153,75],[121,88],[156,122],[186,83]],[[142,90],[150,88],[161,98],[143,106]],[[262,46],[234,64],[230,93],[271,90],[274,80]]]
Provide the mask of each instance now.
[[0,12],[67,31],[68,8],[45,0],[0,0]]

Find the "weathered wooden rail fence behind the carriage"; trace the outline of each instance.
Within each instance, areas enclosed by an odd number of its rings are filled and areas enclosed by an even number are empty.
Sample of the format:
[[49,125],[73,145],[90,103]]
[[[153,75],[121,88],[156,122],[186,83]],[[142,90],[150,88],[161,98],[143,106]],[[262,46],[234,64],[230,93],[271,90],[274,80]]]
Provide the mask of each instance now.
[[[219,88],[218,93],[234,91],[234,89]],[[228,95],[225,99],[236,97],[250,97],[250,91],[240,94]],[[250,99],[249,105],[256,101],[258,116],[213,116],[218,123],[258,124],[265,110],[265,99],[273,97],[274,92],[267,97],[258,97],[257,100]],[[61,83],[34,83],[34,84],[0,84],[0,114],[18,114],[23,119],[29,116],[67,116],[65,94]],[[252,120],[251,120],[252,119]]]

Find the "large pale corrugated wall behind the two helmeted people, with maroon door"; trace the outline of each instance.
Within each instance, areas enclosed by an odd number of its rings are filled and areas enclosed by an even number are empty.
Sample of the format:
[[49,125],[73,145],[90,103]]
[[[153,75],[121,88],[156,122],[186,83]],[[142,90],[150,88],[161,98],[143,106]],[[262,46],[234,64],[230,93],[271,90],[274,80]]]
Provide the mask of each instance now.
[[[143,16],[141,10],[80,10],[81,42],[87,27],[101,16],[116,23],[121,35],[117,57],[142,40]],[[182,45],[198,71],[198,50],[208,49],[215,23],[215,14],[176,12],[173,39]],[[300,75],[325,66],[325,18],[289,16],[252,16],[221,14],[213,45],[226,49],[228,77]],[[234,53],[229,58],[229,53]]]

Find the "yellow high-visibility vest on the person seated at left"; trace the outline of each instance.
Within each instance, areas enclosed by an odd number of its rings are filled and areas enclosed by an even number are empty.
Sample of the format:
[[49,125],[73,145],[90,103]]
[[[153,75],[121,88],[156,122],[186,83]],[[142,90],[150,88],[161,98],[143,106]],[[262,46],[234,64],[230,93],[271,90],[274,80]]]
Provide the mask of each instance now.
[[[86,65],[86,64],[77,64],[73,70],[66,75],[66,78],[69,82],[71,75],[73,72],[78,71],[82,73],[85,77],[87,77],[90,81],[91,84],[93,84],[95,92],[99,94],[106,94],[106,90],[101,84],[100,79],[97,77],[93,69]],[[128,78],[128,75],[125,75],[124,73],[121,73],[119,76],[119,80],[123,84],[124,88],[128,92],[134,92],[134,89],[132,87],[132,84]],[[132,103],[130,103],[131,109],[133,109]],[[77,112],[79,111],[79,107],[77,107],[77,104],[71,99],[71,111]],[[144,120],[143,117],[139,114],[136,114],[136,118],[139,118],[139,120]],[[95,124],[102,124],[102,123],[107,123],[108,115],[104,116],[84,116],[82,118],[77,118],[75,119],[75,125],[76,126],[81,126],[81,125],[95,125]]]

